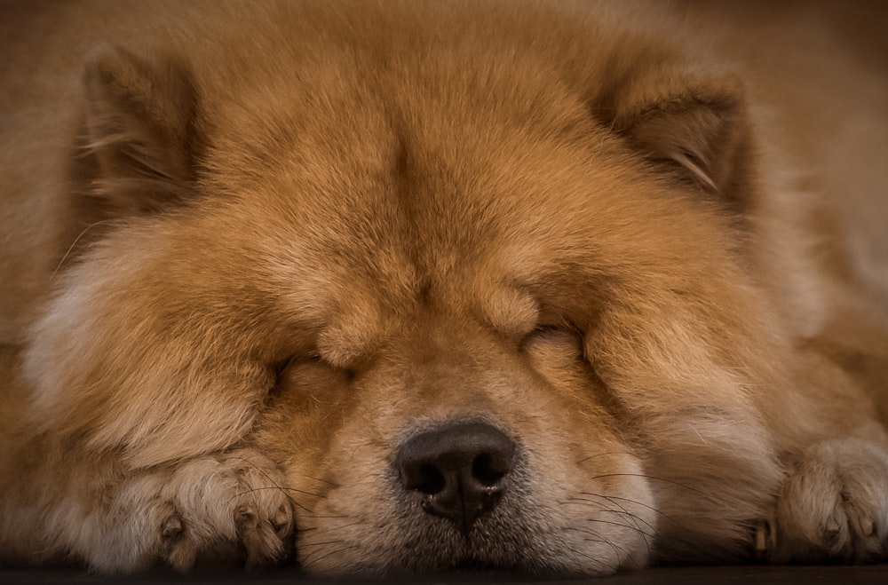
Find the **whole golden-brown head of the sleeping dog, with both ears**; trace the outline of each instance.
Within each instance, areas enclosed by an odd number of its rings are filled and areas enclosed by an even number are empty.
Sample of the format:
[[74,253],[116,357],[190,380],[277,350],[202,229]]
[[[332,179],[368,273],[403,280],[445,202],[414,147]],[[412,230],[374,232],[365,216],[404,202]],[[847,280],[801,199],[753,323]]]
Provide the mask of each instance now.
[[733,87],[671,112],[641,83],[617,115],[621,88],[424,58],[202,100],[168,63],[171,113],[132,115],[112,82],[158,67],[99,57],[93,181],[163,210],[68,270],[29,353],[47,420],[133,467],[258,446],[312,572],[736,552],[777,473],[748,392],[773,383],[766,309],[707,192],[744,187]]

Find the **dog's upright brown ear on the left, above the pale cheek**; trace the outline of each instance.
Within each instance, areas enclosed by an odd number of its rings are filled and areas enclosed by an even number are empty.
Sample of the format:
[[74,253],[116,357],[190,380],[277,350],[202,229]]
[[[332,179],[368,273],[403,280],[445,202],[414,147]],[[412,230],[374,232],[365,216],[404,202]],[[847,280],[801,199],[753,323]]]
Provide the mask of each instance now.
[[[197,96],[190,69],[169,55],[143,59],[102,47],[83,75],[84,111],[73,170],[91,220],[167,209],[193,179]],[[85,209],[84,209],[85,208]],[[100,216],[95,217],[99,210]]]

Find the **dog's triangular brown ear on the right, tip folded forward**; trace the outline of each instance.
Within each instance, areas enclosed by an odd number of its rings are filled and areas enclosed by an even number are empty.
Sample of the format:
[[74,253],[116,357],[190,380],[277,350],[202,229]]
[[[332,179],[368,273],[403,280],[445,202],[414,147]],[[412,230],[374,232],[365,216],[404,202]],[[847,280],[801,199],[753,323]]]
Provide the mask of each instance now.
[[646,159],[733,205],[748,198],[749,128],[739,79],[654,69],[615,88],[606,122]]

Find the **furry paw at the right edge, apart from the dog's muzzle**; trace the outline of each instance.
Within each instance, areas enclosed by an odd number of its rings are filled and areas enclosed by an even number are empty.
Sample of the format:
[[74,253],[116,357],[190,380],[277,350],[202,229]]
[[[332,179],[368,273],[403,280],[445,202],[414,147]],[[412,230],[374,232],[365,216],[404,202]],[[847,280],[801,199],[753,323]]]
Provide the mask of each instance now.
[[884,559],[888,454],[865,440],[841,439],[789,457],[776,524],[776,562]]

